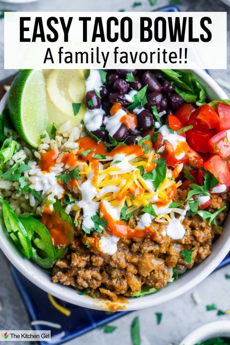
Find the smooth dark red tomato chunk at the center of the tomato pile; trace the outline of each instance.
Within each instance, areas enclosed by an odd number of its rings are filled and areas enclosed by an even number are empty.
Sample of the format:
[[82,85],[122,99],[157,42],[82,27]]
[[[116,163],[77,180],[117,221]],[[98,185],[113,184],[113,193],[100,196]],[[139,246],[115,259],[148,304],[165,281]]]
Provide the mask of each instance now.
[[215,135],[215,130],[208,132],[200,132],[196,130],[190,130],[186,132],[186,140],[188,145],[198,152],[209,152],[208,141]]

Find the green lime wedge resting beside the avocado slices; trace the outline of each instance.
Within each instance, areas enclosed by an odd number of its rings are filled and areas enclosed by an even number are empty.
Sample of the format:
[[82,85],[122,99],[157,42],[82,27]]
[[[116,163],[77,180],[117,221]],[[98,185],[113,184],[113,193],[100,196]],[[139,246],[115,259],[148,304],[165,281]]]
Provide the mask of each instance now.
[[22,70],[10,87],[9,112],[18,134],[37,148],[47,128],[46,87],[41,70]]

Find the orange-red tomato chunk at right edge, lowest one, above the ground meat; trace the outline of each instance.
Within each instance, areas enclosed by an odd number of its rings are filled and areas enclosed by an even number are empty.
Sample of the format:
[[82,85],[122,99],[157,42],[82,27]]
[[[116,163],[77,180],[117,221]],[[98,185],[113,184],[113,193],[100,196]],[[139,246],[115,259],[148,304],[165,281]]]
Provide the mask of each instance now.
[[[226,162],[220,158],[220,156],[217,154],[214,155],[203,164],[203,167],[214,175],[219,181],[219,184],[225,184],[227,191],[230,190],[230,170]],[[202,172],[199,170],[198,181],[202,183],[200,179],[202,180]]]

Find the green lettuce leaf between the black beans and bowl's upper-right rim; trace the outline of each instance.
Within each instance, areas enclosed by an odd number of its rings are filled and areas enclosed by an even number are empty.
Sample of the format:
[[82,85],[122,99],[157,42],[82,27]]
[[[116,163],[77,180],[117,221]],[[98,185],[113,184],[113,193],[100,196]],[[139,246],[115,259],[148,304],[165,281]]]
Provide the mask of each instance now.
[[175,91],[188,103],[205,103],[206,92],[193,73],[172,69],[161,69],[166,79],[172,82]]

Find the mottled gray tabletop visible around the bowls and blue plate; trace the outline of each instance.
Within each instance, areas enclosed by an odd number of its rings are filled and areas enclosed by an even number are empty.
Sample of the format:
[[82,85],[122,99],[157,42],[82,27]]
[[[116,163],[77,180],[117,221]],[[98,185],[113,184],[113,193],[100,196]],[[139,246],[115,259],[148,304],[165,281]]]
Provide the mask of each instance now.
[[[157,0],[155,6],[150,6],[148,0],[142,0],[142,5],[135,8],[132,8],[133,2],[133,0],[40,0],[27,4],[9,4],[0,1],[0,8],[16,11],[117,11],[119,9],[149,11],[168,5],[169,0]],[[181,0],[179,7],[181,11],[228,11],[230,16],[230,9],[220,0]],[[230,27],[228,30],[230,31]],[[0,20],[0,33],[0,78],[3,79],[14,72],[3,68],[3,20]],[[230,43],[230,32],[228,42]],[[228,57],[230,58],[230,44]],[[227,82],[230,80],[230,69],[212,70],[210,73],[214,79],[221,78]],[[230,96],[230,90],[225,91]],[[10,275],[9,263],[2,253],[0,253],[0,262],[0,329],[30,329],[25,306]],[[230,315],[217,316],[216,311],[207,312],[205,309],[206,304],[212,303],[216,303],[218,309],[223,311],[230,309],[230,279],[225,279],[225,274],[230,274],[230,266],[214,272],[193,291],[170,302],[132,312],[114,321],[111,324],[117,326],[117,329],[112,334],[105,334],[102,330],[95,329],[68,344],[130,345],[131,321],[137,315],[140,319],[142,345],[179,344],[189,332],[207,322],[230,320]],[[194,291],[201,298],[199,305],[192,298]],[[163,313],[160,325],[156,323],[155,312]],[[29,345],[27,342],[23,344]]]

